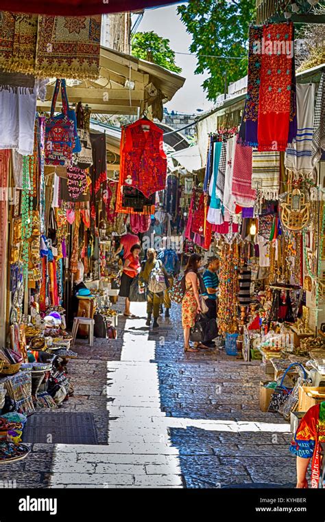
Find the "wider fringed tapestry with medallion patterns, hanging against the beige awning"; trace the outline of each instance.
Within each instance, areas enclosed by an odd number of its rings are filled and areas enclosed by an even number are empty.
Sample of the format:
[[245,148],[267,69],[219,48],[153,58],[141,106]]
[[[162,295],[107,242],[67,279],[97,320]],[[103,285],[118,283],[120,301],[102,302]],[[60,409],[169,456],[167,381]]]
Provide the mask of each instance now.
[[97,80],[101,16],[40,16],[36,76]]

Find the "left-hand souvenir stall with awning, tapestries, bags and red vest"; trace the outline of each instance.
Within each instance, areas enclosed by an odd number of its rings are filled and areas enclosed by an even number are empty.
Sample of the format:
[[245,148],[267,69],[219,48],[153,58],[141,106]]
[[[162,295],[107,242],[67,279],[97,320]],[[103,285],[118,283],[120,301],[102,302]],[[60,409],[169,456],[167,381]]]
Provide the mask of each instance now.
[[[108,174],[106,134],[92,118],[115,109],[136,115],[148,105],[159,112],[184,78],[165,69],[160,78],[159,68],[146,63],[144,71],[134,57],[125,66],[126,58],[100,47],[100,32],[100,15],[0,16],[1,462],[27,455],[27,416],[73,394],[67,365],[77,357],[75,336],[89,336],[90,345],[94,334],[115,339],[117,238],[126,219],[136,233],[149,228],[165,189],[160,128],[147,119],[125,127],[117,182]],[[123,73],[134,91],[121,89]],[[112,78],[107,103],[100,74]],[[160,87],[149,101],[147,82]],[[71,335],[73,315],[84,320]]]

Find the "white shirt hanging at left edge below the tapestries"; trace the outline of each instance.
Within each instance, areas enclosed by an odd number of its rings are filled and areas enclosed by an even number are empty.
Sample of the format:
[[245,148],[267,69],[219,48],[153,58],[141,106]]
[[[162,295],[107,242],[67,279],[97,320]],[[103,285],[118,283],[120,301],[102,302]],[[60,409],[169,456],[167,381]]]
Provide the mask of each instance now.
[[49,80],[35,80],[34,89],[0,91],[0,149],[11,148],[24,156],[34,150],[36,100],[45,100]]

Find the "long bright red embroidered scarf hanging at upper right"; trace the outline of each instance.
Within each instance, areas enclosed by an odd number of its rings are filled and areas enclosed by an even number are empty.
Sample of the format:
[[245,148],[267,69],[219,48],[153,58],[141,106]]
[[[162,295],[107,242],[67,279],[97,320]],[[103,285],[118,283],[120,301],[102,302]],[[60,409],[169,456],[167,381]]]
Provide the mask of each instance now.
[[258,104],[258,150],[285,150],[289,137],[293,74],[293,23],[263,27],[265,52],[261,60]]

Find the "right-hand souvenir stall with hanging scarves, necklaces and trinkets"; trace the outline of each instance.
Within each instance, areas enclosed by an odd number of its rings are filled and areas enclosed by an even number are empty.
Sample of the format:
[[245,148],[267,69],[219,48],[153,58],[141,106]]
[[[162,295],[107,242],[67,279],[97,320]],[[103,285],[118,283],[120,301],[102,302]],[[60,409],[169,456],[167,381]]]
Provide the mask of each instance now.
[[[293,39],[292,23],[250,27],[247,95],[213,115],[206,176],[186,225],[186,238],[204,249],[212,241],[221,261],[217,319],[226,353],[260,359],[274,386],[285,374],[287,418],[303,388],[318,387],[311,391],[320,398],[325,391],[325,66],[296,75],[294,56],[256,52]],[[261,385],[263,397],[273,391]]]

